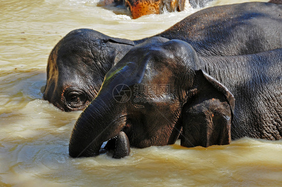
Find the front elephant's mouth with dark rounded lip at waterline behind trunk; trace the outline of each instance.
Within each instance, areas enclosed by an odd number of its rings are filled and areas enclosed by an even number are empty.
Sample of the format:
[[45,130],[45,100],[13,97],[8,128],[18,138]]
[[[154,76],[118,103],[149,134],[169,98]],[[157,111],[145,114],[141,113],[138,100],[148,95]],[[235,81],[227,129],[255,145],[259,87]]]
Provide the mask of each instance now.
[[122,158],[130,153],[130,144],[125,132],[120,131],[118,135],[109,139],[106,145],[100,149],[99,153],[107,152],[113,158]]

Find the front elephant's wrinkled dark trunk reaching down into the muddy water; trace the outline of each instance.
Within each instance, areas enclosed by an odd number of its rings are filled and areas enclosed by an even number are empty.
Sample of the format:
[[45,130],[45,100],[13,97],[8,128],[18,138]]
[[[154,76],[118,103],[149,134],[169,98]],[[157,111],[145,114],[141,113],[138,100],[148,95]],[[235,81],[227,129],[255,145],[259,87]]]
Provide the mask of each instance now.
[[[103,142],[119,134],[125,126],[125,117],[122,103],[117,102],[110,94],[98,95],[81,113],[71,133],[70,156],[98,155]],[[113,107],[116,105],[119,107]]]

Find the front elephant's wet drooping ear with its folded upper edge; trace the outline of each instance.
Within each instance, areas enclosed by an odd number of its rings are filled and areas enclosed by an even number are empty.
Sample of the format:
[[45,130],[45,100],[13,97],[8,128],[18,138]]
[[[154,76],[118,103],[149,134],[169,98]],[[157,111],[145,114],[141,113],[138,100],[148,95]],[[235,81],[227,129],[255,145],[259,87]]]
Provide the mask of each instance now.
[[181,145],[186,147],[225,145],[231,142],[235,99],[230,91],[202,70],[182,110]]

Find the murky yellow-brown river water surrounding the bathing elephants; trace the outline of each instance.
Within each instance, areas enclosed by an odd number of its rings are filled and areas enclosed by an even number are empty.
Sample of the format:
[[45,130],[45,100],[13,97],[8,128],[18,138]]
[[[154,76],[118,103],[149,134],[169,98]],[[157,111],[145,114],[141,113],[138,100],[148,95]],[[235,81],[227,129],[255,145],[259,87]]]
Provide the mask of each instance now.
[[[243,1],[233,1],[243,2]],[[215,1],[222,5],[230,1]],[[47,58],[55,44],[77,28],[112,37],[140,39],[187,15],[150,15],[131,20],[127,11],[95,1],[2,0],[0,17],[0,186],[185,186],[282,183],[282,141],[242,138],[230,145],[131,148],[112,159],[70,158],[68,143],[80,112],[62,112],[42,100]],[[125,15],[124,15],[125,14]]]

